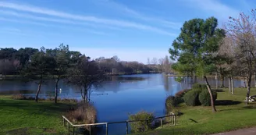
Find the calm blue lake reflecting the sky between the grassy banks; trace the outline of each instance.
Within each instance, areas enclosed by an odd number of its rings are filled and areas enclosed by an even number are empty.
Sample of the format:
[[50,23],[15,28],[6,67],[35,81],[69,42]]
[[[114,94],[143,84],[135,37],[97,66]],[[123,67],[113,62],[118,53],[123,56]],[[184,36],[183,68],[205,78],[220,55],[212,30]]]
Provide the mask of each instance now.
[[[198,82],[203,83],[201,78]],[[215,87],[215,77],[208,78],[212,87]],[[235,80],[235,87],[243,87],[244,82]],[[219,81],[219,85],[221,82]],[[225,81],[226,87],[228,81]],[[115,122],[128,119],[129,114],[141,110],[154,112],[155,116],[165,115],[165,98],[176,92],[190,88],[190,78],[184,77],[183,83],[178,83],[173,76],[162,74],[140,74],[110,76],[98,89],[93,89],[91,102],[98,112],[98,122]],[[79,91],[60,81],[59,97],[80,99]],[[0,81],[0,94],[25,94],[34,96],[37,84],[25,83],[22,80]],[[54,80],[46,81],[41,87],[40,97],[50,97],[55,93]],[[113,124],[108,126],[108,134],[126,134],[126,126]],[[102,131],[104,132],[104,131]]]

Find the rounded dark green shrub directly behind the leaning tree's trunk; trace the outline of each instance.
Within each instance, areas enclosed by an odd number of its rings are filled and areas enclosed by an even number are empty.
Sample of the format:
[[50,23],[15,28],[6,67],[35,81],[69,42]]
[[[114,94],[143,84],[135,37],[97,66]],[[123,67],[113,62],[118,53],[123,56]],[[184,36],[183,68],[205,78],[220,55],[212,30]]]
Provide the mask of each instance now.
[[[215,101],[217,98],[217,92],[212,91],[212,96]],[[207,90],[201,91],[201,93],[199,94],[199,101],[201,102],[201,105],[204,105],[204,106],[211,105],[211,96]]]

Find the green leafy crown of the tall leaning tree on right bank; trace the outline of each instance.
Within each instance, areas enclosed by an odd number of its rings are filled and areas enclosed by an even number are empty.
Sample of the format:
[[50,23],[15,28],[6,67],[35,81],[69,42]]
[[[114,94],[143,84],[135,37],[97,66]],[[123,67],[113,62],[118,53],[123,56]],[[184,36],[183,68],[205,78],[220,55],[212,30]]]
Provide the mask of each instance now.
[[224,30],[217,26],[218,21],[214,17],[189,20],[183,24],[180,36],[169,48],[171,58],[178,61],[174,66],[176,71],[204,75],[215,69],[212,53],[218,51],[219,41],[225,37]]

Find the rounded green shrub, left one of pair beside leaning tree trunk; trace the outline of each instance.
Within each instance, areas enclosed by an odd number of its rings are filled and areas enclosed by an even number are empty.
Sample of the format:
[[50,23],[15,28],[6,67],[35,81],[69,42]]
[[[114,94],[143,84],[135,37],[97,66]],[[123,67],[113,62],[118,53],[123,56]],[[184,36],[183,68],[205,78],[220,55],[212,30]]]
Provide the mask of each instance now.
[[201,105],[200,101],[199,101],[199,94],[201,93],[201,91],[199,90],[191,90],[191,91],[188,91],[183,99],[186,103],[186,105],[188,106],[197,106],[197,105]]

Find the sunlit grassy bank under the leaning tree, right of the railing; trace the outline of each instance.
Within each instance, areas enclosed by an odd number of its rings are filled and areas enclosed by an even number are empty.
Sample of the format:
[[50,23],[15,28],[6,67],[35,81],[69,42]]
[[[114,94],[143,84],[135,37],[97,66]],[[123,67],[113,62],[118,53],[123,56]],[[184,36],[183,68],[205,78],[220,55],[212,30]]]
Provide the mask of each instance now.
[[[256,89],[251,90],[251,95],[256,94]],[[231,95],[228,89],[218,92],[216,109],[212,113],[211,107],[188,107],[181,104],[177,109],[182,112],[177,119],[178,125],[170,127],[165,125],[163,129],[157,129],[142,134],[211,134],[222,133],[229,130],[256,126],[256,103],[244,104],[246,89],[236,88],[235,95]]]

